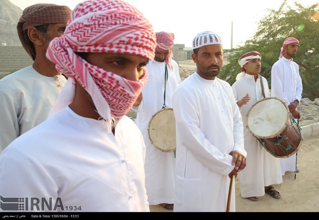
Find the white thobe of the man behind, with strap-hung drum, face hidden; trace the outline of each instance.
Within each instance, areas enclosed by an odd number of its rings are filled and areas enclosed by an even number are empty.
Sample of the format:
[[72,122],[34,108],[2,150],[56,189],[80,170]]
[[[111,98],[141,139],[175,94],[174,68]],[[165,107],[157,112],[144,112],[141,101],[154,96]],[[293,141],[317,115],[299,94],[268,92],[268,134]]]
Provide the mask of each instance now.
[[[174,152],[156,149],[148,137],[148,123],[164,104],[165,62],[151,61],[147,64],[148,82],[142,89],[143,100],[138,106],[136,125],[143,134],[146,145],[145,185],[150,205],[174,203],[175,158]],[[171,99],[180,83],[178,65],[172,61],[173,71],[167,66],[166,106],[171,107]]]

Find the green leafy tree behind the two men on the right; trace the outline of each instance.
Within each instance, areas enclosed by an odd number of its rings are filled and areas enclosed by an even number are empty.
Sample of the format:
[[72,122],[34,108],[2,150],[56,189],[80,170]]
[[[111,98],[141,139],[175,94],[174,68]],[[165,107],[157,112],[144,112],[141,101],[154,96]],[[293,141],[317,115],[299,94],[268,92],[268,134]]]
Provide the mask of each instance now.
[[238,59],[249,51],[262,54],[261,75],[269,84],[271,67],[278,60],[280,48],[287,37],[299,39],[299,49],[294,61],[299,65],[303,83],[303,97],[319,97],[319,4],[304,7],[297,2],[294,9],[284,0],[280,9],[268,10],[260,22],[254,37],[244,46],[228,51],[229,64],[223,67],[220,78],[230,85],[241,72]]

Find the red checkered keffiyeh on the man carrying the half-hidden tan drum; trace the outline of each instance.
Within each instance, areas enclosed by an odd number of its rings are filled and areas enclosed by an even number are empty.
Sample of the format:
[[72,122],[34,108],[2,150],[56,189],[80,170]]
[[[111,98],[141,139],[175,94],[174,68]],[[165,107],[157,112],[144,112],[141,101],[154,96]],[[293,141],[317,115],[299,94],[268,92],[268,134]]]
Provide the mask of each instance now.
[[156,35],[155,51],[163,52],[163,51],[170,49],[169,54],[168,54],[165,62],[173,70],[173,65],[171,64],[173,52],[172,52],[171,48],[174,46],[174,37],[165,31],[157,32],[155,35]]

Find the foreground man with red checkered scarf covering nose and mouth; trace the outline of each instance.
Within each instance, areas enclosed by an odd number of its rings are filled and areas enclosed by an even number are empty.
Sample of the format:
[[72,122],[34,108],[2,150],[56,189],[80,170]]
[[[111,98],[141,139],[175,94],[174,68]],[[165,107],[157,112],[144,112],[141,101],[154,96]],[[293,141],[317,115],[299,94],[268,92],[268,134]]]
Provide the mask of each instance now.
[[145,145],[125,114],[154,49],[151,24],[128,3],[78,4],[47,51],[68,82],[51,118],[1,154],[2,195],[58,204],[46,211],[149,211]]

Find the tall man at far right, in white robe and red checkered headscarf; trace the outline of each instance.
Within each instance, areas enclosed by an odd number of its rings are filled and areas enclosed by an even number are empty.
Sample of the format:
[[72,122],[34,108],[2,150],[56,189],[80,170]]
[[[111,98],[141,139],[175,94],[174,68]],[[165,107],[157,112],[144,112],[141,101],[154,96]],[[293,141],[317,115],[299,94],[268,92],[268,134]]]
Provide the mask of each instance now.
[[[293,61],[299,46],[299,40],[294,37],[285,39],[279,60],[271,68],[271,96],[283,99],[289,107],[289,111],[296,121],[300,118],[297,111],[302,94],[302,81],[299,74],[299,66]],[[286,171],[296,172],[296,154],[281,158],[282,175]]]

